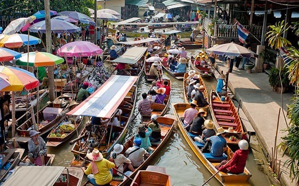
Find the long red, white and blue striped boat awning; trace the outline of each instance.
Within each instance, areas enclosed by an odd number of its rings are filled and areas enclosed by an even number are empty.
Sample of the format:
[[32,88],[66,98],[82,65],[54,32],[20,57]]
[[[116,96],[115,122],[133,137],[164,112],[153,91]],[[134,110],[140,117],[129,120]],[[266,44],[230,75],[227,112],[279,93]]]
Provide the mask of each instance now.
[[137,79],[138,76],[112,75],[67,115],[111,118]]

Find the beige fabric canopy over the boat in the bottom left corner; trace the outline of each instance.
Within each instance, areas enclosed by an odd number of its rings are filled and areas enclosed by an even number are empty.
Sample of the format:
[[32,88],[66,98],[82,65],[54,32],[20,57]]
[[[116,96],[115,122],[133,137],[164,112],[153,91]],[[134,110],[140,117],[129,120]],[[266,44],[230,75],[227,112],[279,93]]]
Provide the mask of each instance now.
[[65,167],[16,167],[2,186],[53,186]]

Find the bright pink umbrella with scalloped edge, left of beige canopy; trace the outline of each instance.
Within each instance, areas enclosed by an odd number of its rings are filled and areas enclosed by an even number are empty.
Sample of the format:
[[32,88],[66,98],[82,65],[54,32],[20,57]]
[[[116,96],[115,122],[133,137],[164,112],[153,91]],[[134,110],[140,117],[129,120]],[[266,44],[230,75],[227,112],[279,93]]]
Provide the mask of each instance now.
[[57,50],[60,57],[89,57],[101,55],[103,50],[89,41],[74,41]]

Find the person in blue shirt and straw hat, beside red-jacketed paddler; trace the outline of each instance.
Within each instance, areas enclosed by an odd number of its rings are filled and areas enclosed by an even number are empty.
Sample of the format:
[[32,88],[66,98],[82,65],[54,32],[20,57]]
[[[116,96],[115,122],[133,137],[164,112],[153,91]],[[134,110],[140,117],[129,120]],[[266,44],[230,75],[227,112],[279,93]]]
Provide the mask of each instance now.
[[209,147],[210,154],[215,157],[222,156],[224,147],[226,147],[226,140],[224,139],[225,130],[222,127],[219,127],[217,128],[217,131],[216,135],[206,138],[208,143],[202,148],[202,151],[204,152],[207,147]]

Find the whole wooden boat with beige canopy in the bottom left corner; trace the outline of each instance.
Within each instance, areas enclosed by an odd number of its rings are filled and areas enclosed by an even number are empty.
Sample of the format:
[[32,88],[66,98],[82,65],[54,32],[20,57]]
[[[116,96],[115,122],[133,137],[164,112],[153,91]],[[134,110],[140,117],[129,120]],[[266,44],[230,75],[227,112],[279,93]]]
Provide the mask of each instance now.
[[3,186],[15,186],[17,183],[24,186],[80,186],[83,176],[81,168],[20,166],[16,167]]

